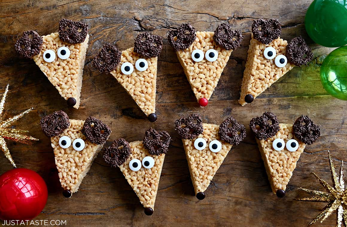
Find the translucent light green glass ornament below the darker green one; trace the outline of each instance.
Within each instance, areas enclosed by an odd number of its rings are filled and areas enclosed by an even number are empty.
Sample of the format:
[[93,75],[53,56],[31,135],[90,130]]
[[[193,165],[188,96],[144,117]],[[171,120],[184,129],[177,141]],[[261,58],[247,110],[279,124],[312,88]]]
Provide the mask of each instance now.
[[321,66],[322,85],[338,99],[347,100],[347,46],[332,51]]

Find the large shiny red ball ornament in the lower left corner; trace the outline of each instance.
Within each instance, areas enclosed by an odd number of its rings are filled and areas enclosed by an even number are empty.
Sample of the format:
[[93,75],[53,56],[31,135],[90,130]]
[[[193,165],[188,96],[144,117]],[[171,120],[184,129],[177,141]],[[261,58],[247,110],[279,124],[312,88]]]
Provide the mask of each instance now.
[[43,210],[47,186],[36,172],[18,168],[0,176],[0,219],[31,220]]

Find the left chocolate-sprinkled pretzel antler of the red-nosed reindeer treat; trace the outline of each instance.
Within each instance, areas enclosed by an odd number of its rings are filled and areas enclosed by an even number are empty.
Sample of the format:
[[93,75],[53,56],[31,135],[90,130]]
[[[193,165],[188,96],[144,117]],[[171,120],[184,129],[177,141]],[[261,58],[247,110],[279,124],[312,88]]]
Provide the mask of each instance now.
[[195,28],[189,23],[181,24],[178,29],[169,30],[168,41],[175,51],[188,48],[195,39]]

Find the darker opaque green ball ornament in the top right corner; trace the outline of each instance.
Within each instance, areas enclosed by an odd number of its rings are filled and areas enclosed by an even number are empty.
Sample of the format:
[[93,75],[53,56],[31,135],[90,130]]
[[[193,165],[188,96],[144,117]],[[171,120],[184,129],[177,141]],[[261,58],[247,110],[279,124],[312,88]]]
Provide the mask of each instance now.
[[314,0],[305,16],[305,28],[312,40],[322,46],[347,44],[347,1]]

